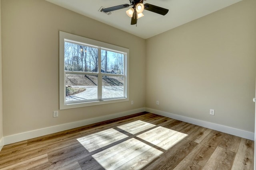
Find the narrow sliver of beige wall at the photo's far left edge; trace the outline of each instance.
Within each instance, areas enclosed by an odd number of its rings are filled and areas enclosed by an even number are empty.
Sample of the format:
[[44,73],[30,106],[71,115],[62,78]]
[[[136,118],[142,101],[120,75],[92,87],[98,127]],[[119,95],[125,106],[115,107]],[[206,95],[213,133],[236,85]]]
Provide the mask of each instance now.
[[0,148],[1,148],[2,137],[3,137],[3,100],[2,100],[2,34],[1,34],[1,2],[0,2]]

